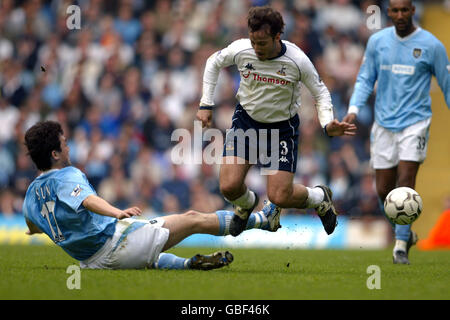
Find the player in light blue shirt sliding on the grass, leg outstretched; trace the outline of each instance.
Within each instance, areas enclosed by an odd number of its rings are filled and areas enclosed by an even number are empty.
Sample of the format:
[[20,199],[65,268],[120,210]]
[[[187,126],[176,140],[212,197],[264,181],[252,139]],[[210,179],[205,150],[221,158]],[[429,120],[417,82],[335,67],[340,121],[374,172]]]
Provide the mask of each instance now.
[[[46,121],[25,134],[25,145],[42,171],[29,186],[23,203],[27,234],[45,233],[82,268],[201,269],[220,268],[233,261],[228,252],[197,254],[190,259],[162,253],[194,233],[229,234],[233,212],[189,210],[153,220],[135,219],[141,210],[120,210],[97,196],[86,176],[71,166],[61,125]],[[276,231],[281,210],[267,202],[252,213],[246,229]]]

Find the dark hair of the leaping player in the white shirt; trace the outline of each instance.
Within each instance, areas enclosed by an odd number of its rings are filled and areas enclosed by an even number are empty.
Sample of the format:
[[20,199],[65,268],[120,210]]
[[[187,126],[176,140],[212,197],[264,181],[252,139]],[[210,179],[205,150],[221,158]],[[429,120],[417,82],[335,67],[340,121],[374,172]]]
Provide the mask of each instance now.
[[250,8],[247,24],[250,32],[269,28],[269,34],[273,38],[284,30],[283,17],[269,6]]

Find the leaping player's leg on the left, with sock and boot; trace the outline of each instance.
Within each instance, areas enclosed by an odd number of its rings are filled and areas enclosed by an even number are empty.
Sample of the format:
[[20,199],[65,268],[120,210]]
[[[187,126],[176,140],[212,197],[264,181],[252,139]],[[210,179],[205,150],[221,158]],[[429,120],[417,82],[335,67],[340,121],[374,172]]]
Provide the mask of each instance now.
[[[243,163],[242,163],[243,162]],[[239,235],[247,225],[250,213],[258,205],[258,195],[245,185],[245,177],[251,164],[243,158],[224,156],[220,166],[220,191],[233,204],[234,215],[230,223],[230,234]]]

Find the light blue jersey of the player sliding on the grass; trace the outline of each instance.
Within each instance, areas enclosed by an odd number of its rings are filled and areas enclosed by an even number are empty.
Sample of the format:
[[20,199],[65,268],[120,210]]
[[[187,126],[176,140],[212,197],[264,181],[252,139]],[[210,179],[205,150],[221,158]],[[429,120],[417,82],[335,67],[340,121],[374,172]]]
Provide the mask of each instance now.
[[96,194],[75,167],[46,172],[29,186],[23,203],[26,219],[77,260],[96,253],[114,234],[117,219],[99,215],[82,205]]

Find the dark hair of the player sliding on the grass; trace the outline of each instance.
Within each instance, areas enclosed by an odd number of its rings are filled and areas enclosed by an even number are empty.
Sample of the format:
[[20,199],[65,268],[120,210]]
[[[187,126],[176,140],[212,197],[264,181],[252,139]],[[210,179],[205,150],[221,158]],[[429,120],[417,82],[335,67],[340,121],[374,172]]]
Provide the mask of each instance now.
[[52,151],[61,151],[61,125],[55,121],[38,122],[25,133],[25,146],[36,167],[49,170],[52,167]]

